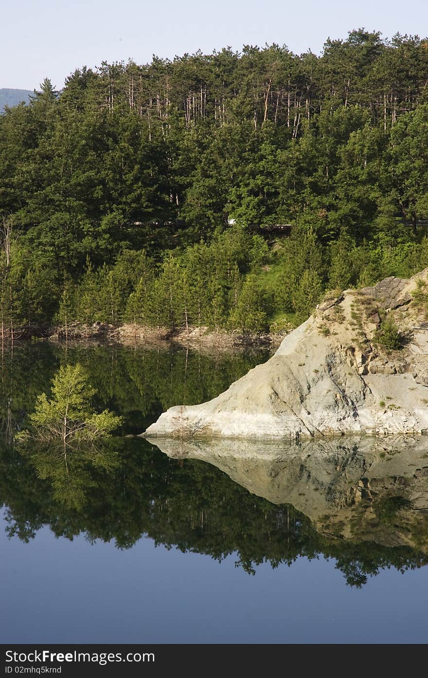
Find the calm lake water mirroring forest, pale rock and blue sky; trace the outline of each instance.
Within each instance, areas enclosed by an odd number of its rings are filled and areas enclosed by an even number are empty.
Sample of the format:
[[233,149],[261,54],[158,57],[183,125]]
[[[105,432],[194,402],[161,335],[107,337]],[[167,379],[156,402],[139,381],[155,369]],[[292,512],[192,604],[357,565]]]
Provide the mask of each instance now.
[[[268,357],[43,342],[3,355],[0,642],[428,641],[428,442],[127,437]],[[10,445],[77,362],[121,436],[67,467]]]

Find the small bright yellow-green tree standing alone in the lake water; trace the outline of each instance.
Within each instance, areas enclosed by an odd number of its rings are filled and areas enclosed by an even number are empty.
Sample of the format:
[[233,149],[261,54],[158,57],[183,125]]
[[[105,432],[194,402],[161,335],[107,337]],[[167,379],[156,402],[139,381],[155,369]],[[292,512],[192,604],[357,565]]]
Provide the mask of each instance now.
[[96,414],[91,408],[91,387],[82,365],[60,367],[52,380],[52,398],[37,397],[30,420],[34,437],[41,441],[97,440],[119,428],[123,419],[109,410]]

